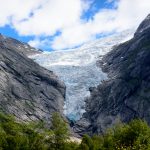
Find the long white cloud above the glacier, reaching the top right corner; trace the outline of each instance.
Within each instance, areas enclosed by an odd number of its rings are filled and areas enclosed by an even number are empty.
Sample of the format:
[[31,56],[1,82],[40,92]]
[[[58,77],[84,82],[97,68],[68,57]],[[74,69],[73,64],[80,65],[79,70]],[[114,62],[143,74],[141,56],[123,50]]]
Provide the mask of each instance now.
[[120,32],[137,28],[139,23],[150,13],[149,0],[116,1],[115,9],[99,10],[93,19],[62,30],[62,34],[54,38],[54,49],[68,48],[88,42],[97,34],[112,31]]

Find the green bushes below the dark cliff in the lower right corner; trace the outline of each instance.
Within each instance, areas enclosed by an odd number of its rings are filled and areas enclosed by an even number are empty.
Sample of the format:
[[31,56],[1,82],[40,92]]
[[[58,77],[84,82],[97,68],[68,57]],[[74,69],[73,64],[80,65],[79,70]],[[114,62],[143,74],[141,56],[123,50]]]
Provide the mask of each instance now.
[[116,125],[103,136],[93,136],[90,142],[83,137],[82,143],[89,150],[150,150],[150,127],[142,120],[133,120]]

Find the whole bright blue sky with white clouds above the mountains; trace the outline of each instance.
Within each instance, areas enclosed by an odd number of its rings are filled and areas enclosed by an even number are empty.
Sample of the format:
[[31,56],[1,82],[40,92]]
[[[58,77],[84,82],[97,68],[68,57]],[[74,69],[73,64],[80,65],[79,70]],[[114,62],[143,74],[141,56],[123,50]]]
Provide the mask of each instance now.
[[150,0],[0,0],[0,33],[43,50],[136,29]]

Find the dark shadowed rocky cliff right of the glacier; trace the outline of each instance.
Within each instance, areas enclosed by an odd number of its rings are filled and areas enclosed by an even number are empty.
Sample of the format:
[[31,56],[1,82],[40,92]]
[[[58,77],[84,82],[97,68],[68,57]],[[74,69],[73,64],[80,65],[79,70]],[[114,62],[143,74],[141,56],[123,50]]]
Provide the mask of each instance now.
[[133,39],[114,47],[98,64],[109,79],[91,90],[76,132],[101,133],[118,120],[134,118],[150,123],[150,15]]

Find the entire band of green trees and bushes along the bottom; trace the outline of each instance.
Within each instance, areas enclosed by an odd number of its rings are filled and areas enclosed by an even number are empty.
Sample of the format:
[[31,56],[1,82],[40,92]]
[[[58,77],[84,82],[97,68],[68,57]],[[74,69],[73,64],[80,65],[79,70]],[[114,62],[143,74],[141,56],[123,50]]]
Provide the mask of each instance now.
[[0,113],[0,150],[150,150],[150,127],[142,120],[119,123],[76,143],[69,140],[67,124],[58,113],[52,116],[51,130],[43,122],[20,123]]

